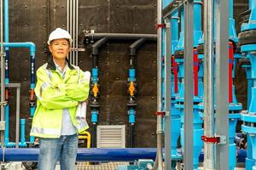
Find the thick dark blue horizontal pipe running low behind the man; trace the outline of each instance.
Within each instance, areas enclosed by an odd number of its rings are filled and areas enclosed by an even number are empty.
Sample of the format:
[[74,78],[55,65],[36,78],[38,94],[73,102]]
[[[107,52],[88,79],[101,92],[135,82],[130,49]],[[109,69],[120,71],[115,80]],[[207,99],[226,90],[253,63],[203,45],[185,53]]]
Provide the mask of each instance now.
[[[177,149],[181,155],[181,150]],[[238,150],[239,162],[244,162],[246,150]],[[38,161],[38,148],[6,148],[5,161]],[[155,159],[156,148],[79,148],[77,161],[135,161],[138,159]],[[203,161],[204,153],[201,151],[199,161]],[[0,149],[0,160],[3,160],[3,149]]]

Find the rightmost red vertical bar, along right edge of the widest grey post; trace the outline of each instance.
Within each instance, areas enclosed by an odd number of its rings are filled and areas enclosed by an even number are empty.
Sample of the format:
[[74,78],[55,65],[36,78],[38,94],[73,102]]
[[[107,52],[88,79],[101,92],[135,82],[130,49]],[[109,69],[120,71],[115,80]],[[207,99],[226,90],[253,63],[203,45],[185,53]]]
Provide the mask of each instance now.
[[233,93],[232,93],[232,86],[233,86],[233,78],[232,78],[232,70],[233,70],[233,63],[234,63],[234,46],[232,42],[229,42],[229,102],[232,103]]

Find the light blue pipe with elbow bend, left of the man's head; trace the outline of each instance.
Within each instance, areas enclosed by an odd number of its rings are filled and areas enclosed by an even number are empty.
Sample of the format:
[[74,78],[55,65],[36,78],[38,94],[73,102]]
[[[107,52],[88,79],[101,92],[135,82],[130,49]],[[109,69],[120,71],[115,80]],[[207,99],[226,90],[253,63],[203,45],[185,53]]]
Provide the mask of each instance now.
[[5,48],[29,48],[30,55],[35,56],[36,45],[34,42],[3,42],[0,43],[0,46]]

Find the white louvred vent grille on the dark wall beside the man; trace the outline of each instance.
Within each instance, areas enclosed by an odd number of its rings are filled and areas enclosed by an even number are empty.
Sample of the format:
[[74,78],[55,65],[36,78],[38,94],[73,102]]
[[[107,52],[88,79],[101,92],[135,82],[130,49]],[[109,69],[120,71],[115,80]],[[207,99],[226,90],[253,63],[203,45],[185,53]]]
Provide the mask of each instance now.
[[125,148],[125,125],[97,126],[97,148]]

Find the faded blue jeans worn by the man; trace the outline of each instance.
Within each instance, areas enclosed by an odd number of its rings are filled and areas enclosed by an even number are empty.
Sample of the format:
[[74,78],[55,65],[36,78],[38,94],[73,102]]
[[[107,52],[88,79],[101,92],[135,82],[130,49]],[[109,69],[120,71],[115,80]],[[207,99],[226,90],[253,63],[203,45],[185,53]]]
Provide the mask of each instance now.
[[78,142],[77,134],[59,139],[39,139],[38,170],[55,170],[57,161],[60,161],[61,170],[74,170]]

